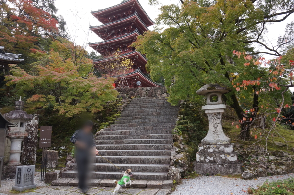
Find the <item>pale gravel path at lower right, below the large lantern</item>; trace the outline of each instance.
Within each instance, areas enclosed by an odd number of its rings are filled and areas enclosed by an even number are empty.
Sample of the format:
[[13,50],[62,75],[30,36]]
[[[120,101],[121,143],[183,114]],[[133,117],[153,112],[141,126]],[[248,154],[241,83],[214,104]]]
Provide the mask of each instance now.
[[260,177],[251,180],[226,178],[222,176],[201,176],[184,179],[171,195],[248,195],[249,187],[256,188],[266,180],[276,181],[294,177],[294,173],[278,176]]

